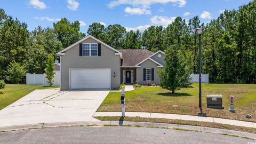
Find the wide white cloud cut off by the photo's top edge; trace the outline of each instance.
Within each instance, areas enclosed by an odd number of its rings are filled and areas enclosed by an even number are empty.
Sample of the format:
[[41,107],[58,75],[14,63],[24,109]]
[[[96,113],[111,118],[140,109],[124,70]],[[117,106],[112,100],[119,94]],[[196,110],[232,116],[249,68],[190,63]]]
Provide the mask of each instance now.
[[108,7],[113,8],[115,6],[118,5],[122,5],[122,4],[130,4],[133,6],[141,6],[141,7],[146,7],[149,8],[151,4],[156,4],[156,3],[160,3],[160,4],[166,4],[166,3],[175,3],[178,4],[179,7],[185,6],[187,4],[186,0],[115,0],[115,1],[111,1],[108,4]]

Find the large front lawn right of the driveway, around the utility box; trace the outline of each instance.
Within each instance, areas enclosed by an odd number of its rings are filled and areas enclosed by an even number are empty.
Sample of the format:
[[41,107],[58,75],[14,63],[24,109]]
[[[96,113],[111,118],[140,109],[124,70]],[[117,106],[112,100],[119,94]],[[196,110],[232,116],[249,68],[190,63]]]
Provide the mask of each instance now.
[[[224,109],[206,108],[207,94],[222,94]],[[229,95],[235,95],[236,113],[229,111]],[[121,111],[121,92],[110,92],[97,111]],[[198,83],[177,91],[161,87],[141,88],[125,92],[125,110],[152,113],[197,115]],[[202,108],[209,117],[256,122],[256,85],[253,84],[202,84]],[[246,114],[252,115],[247,119]]]

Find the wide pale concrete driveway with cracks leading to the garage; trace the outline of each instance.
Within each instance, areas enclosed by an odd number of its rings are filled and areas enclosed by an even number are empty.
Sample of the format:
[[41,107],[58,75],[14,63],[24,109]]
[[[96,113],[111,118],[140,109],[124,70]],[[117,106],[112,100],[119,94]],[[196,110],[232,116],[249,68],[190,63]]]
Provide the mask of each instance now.
[[109,90],[35,90],[0,111],[0,126],[98,121],[93,114]]

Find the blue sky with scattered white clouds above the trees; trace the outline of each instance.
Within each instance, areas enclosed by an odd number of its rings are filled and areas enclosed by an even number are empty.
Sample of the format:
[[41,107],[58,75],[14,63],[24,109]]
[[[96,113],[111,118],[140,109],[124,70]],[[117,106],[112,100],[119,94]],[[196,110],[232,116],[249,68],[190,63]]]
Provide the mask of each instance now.
[[222,10],[238,9],[252,0],[1,0],[6,14],[28,24],[52,27],[61,18],[81,21],[81,31],[86,33],[93,22],[120,24],[126,30],[143,30],[150,25],[166,26],[175,17],[183,19],[198,15],[201,22],[209,22]]

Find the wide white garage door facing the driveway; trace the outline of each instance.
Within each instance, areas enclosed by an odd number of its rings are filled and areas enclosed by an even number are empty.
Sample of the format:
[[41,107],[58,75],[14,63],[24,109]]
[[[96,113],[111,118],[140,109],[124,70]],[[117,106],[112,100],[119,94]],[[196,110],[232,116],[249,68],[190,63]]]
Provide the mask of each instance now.
[[110,89],[111,69],[70,69],[70,89]]

